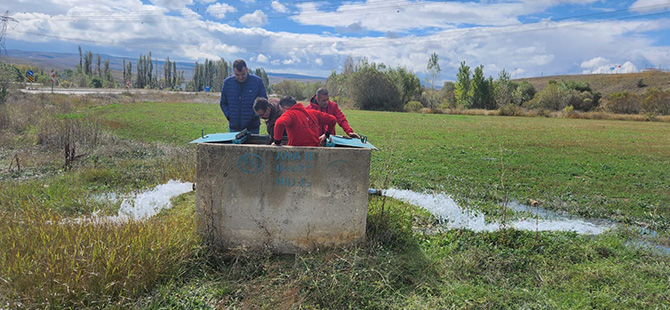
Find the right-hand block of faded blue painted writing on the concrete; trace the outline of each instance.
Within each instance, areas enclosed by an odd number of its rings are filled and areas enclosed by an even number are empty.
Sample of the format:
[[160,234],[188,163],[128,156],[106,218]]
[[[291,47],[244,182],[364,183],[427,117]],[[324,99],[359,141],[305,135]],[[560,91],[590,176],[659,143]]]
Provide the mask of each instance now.
[[312,187],[309,175],[312,172],[314,152],[285,151],[277,153],[275,170],[279,177],[276,186]]

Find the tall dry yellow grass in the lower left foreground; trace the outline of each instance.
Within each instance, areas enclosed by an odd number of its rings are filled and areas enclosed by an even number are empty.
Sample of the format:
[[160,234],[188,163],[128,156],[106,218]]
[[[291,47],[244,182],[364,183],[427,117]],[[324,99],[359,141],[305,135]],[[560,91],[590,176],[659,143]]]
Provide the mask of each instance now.
[[198,251],[190,212],[144,222],[0,212],[0,308],[101,307],[178,277]]

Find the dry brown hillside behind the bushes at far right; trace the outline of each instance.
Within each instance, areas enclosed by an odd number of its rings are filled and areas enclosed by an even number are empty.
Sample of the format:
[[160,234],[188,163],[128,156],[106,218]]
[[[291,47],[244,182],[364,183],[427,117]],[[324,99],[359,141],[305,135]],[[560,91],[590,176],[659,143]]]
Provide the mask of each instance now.
[[[515,81],[528,81],[539,92],[549,84],[549,81],[556,82],[576,81],[587,82],[594,91],[600,92],[603,97],[612,93],[631,92],[642,94],[650,87],[658,87],[663,90],[670,90],[670,72],[640,72],[640,73],[619,73],[619,74],[580,74],[580,75],[556,75],[543,76],[527,79],[517,79]],[[645,87],[638,87],[638,81],[642,80]]]

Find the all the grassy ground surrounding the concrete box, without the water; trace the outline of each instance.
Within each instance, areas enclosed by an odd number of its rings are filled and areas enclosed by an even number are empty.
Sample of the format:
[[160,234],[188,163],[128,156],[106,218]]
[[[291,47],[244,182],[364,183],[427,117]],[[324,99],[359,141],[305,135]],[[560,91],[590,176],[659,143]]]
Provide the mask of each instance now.
[[384,197],[365,242],[296,255],[203,247],[193,192],[145,221],[73,220],[115,214],[104,194],[195,182],[188,142],[227,131],[197,102],[217,100],[0,106],[0,309],[670,308],[670,255],[636,245],[670,246],[666,122],[344,111],[379,148],[371,187],[446,193],[497,221],[518,201],[617,223],[597,236],[440,229]]

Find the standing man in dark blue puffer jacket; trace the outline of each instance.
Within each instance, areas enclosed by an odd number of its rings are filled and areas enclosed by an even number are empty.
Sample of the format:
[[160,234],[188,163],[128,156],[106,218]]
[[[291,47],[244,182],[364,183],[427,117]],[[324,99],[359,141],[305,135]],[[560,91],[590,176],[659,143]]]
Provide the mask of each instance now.
[[268,97],[263,80],[249,74],[247,63],[242,59],[233,62],[233,73],[223,81],[221,87],[221,111],[228,119],[228,130],[258,134],[261,122],[254,112],[254,100],[257,97]]

